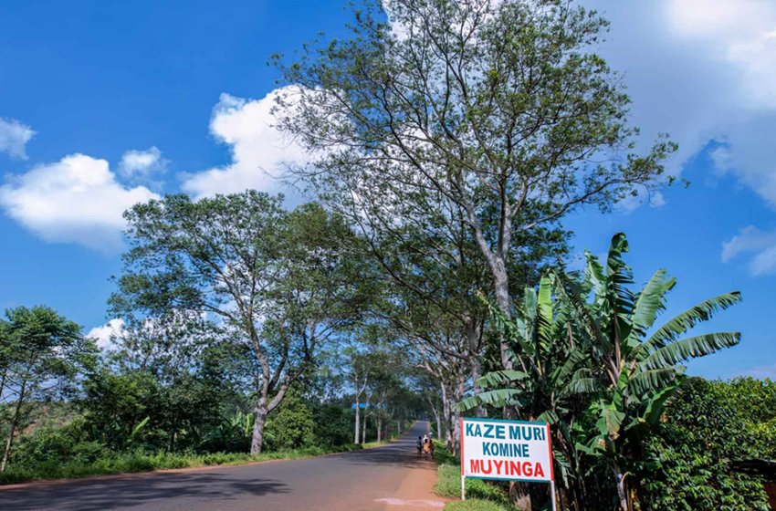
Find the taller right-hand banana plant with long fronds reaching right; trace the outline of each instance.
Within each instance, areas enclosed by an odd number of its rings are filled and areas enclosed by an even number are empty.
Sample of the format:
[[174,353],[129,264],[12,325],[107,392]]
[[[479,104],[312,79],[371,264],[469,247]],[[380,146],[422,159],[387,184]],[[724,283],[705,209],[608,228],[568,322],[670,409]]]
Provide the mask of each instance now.
[[633,272],[622,258],[628,251],[625,235],[618,233],[612,238],[605,267],[587,252],[581,282],[560,276],[561,299],[572,304],[595,365],[601,369],[592,371],[587,381],[589,387],[600,390],[586,412],[595,427],[577,449],[603,457],[611,468],[621,511],[633,508],[635,487],[627,479],[628,468],[642,455],[646,436],[684,381],[681,364],[740,340],[739,332],[684,337],[698,323],[739,303],[739,292],[709,298],[655,328],[676,278],[659,269],[634,293],[628,287],[634,284]]

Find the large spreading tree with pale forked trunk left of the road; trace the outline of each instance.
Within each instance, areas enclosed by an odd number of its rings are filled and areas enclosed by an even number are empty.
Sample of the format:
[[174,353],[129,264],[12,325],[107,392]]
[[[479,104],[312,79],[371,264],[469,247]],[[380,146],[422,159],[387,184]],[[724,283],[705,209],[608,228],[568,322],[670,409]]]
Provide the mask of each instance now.
[[343,256],[350,231],[317,204],[289,213],[281,203],[247,191],[135,205],[125,214],[131,251],[110,299],[119,316],[201,313],[245,343],[257,368],[252,454],[267,414],[360,299],[357,262]]

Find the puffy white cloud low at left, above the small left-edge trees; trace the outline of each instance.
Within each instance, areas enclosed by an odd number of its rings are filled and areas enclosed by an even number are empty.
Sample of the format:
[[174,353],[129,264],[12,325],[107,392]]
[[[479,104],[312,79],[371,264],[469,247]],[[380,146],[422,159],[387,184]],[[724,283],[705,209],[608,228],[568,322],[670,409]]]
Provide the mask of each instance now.
[[48,242],[79,243],[106,254],[123,247],[124,211],[159,197],[144,186],[123,186],[108,162],[85,154],[37,165],[8,182],[0,186],[0,205],[16,222]]

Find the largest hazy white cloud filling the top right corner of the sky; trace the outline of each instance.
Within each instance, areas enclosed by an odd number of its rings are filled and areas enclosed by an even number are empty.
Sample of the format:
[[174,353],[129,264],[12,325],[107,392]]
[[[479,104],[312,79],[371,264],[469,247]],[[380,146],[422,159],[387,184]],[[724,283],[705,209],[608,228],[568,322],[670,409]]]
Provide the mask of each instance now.
[[776,2],[582,0],[612,22],[598,48],[624,72],[642,147],[659,132],[679,143],[668,172],[709,143],[718,174],[776,208]]

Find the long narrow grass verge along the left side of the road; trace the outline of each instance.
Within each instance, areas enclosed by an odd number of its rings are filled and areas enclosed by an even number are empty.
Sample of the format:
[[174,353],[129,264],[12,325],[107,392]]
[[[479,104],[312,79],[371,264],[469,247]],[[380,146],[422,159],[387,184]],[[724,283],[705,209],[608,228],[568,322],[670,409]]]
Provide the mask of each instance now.
[[95,461],[93,464],[78,462],[56,463],[45,462],[34,468],[15,467],[10,464],[5,472],[0,473],[0,485],[13,485],[26,481],[40,479],[73,479],[92,475],[131,474],[150,472],[152,470],[169,470],[175,468],[195,468],[214,465],[236,465],[263,462],[269,460],[296,460],[310,458],[322,454],[345,453],[363,448],[374,447],[384,442],[364,443],[363,445],[347,444],[337,447],[307,447],[288,451],[252,456],[244,453],[213,453],[213,454],[118,454]]

